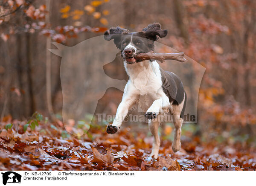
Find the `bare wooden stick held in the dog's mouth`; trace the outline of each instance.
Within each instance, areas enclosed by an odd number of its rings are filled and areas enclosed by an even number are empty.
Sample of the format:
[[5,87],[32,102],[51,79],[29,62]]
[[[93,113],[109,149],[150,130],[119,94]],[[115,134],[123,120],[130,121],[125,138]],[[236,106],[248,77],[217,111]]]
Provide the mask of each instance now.
[[150,59],[156,59],[158,61],[161,61],[163,63],[166,59],[172,59],[180,62],[187,61],[184,58],[184,52],[179,52],[179,53],[166,53],[166,54],[157,54],[152,51],[148,53],[141,53],[135,56],[136,60],[138,62],[140,61],[145,61],[145,60],[150,60]]

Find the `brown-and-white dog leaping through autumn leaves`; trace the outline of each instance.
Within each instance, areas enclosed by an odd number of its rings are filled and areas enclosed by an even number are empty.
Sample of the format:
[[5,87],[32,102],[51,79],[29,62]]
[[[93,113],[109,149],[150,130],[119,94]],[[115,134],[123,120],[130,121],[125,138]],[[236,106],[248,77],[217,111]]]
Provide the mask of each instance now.
[[172,72],[164,71],[155,60],[138,61],[135,56],[154,51],[154,41],[164,38],[167,30],[162,30],[160,23],[151,23],[140,32],[129,32],[120,27],[111,28],[104,33],[107,41],[113,39],[120,49],[128,82],[125,86],[122,101],[119,104],[112,125],[106,132],[114,134],[119,131],[128,111],[139,105],[148,119],[148,127],[154,136],[150,157],[157,158],[160,147],[157,120],[159,115],[171,113],[175,116],[175,137],[172,150],[180,150],[180,135],[186,107],[186,92],[180,78]]

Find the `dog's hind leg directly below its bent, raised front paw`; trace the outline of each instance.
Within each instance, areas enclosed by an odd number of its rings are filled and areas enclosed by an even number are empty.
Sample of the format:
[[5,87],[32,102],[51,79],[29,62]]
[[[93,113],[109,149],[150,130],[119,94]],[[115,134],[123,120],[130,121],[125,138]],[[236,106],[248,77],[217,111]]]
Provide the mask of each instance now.
[[160,147],[160,138],[158,136],[158,127],[159,127],[158,121],[154,121],[154,119],[149,120],[148,128],[154,137],[150,157],[152,157],[154,155],[155,159],[158,156],[158,151],[159,151],[159,147]]

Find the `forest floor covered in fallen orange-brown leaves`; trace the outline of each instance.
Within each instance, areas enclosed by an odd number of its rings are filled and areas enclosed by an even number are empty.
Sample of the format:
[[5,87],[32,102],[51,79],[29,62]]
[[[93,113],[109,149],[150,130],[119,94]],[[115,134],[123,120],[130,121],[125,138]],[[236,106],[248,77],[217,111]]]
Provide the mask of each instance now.
[[148,161],[152,137],[145,130],[123,127],[118,134],[106,134],[105,126],[93,125],[78,138],[61,122],[5,120],[0,123],[0,170],[256,169],[255,148],[241,142],[202,143],[200,137],[190,137],[174,153],[172,141],[162,137],[159,157]]

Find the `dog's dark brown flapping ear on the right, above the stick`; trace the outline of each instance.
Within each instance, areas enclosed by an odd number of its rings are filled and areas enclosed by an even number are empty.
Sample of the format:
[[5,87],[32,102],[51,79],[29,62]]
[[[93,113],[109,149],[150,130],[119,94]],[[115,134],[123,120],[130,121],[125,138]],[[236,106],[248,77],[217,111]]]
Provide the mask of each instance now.
[[143,29],[145,32],[146,38],[157,41],[159,36],[160,38],[166,37],[168,31],[167,30],[162,30],[160,23],[152,23],[149,24],[146,28]]

